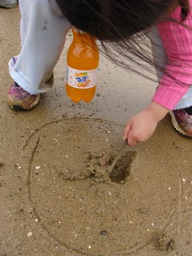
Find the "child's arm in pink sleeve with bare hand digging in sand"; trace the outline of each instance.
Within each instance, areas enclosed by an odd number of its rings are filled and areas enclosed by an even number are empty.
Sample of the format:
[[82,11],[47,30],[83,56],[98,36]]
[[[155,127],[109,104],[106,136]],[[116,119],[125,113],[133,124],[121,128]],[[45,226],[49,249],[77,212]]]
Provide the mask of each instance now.
[[[172,13],[174,19],[180,19],[180,8]],[[192,17],[189,14],[184,22],[192,28]],[[192,84],[192,31],[173,22],[163,22],[158,26],[163,41],[168,64],[166,70],[176,80]],[[169,109],[174,109],[189,86],[178,83],[164,74],[153,101],[146,109],[133,116],[125,127],[124,140],[130,146],[144,142],[150,138],[157,123],[164,118]]]

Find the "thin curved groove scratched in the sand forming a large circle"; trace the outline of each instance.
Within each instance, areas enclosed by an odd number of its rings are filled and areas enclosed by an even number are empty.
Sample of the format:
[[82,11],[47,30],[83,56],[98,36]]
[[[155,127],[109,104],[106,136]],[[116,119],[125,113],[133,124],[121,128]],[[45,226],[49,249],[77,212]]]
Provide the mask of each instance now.
[[[43,125],[42,127],[38,128],[38,129],[35,129],[33,134],[30,134],[28,140],[26,140],[26,143],[25,143],[23,148],[25,149],[28,146],[31,139],[33,138],[33,136],[35,136],[35,134],[37,134],[39,131],[41,131],[41,129],[43,129],[44,127],[47,127],[48,125],[51,125],[51,124],[58,124],[59,122],[65,122],[67,120],[69,120],[69,121],[70,120],[91,120],[91,121],[95,121],[95,122],[109,122],[111,124],[116,124],[113,121],[101,120],[101,119],[97,119],[97,118],[94,118],[94,119],[92,119],[92,118],[63,118],[63,119],[60,119],[60,120],[55,120],[53,122],[50,122],[48,124]],[[120,126],[123,127],[123,125],[120,125]],[[31,158],[30,158],[30,162],[29,162],[29,168],[28,168],[29,201],[31,202],[33,212],[35,213],[36,218],[39,221],[39,224],[44,228],[44,230],[47,231],[47,234],[49,234],[50,237],[52,237],[55,241],[60,243],[62,246],[65,246],[66,248],[68,248],[68,250],[70,250],[72,252],[76,252],[76,253],[79,253],[81,255],[87,255],[87,256],[107,256],[105,253],[90,253],[90,252],[86,252],[86,251],[83,251],[83,250],[78,250],[72,244],[66,243],[65,241],[61,241],[61,239],[59,239],[58,237],[56,237],[54,234],[51,233],[49,228],[42,221],[42,219],[40,217],[40,214],[36,210],[36,204],[35,204],[35,202],[33,202],[32,188],[31,188],[32,165],[33,165],[33,160],[35,158],[35,154],[36,154],[36,151],[38,150],[39,145],[40,145],[40,137],[38,137],[38,139],[36,140],[36,143],[35,143],[35,147],[33,147],[33,151],[31,153]],[[178,233],[180,232],[179,223],[182,220],[182,212],[183,212],[182,211],[183,185],[182,185],[182,179],[181,179],[179,166],[177,166],[177,164],[175,162],[174,162],[174,164],[175,164],[175,167],[177,168],[177,175],[178,175],[178,179],[179,179],[179,195],[178,195],[178,201],[177,201],[178,208],[173,209],[170,212],[168,218],[164,221],[164,223],[162,223],[162,225],[161,225],[162,234],[163,234],[163,232],[166,232],[166,228],[173,221],[177,222],[177,232]],[[175,216],[175,214],[177,214],[177,212],[179,213],[178,218]],[[145,239],[144,242],[139,241],[136,246],[132,246],[131,248],[129,248],[129,250],[126,250],[124,252],[115,252],[115,256],[118,256],[118,255],[119,256],[120,255],[134,255],[134,254],[140,252],[143,248],[145,248],[145,246],[147,246],[148,244],[151,244],[151,243],[154,243],[154,234],[148,235],[147,239]]]

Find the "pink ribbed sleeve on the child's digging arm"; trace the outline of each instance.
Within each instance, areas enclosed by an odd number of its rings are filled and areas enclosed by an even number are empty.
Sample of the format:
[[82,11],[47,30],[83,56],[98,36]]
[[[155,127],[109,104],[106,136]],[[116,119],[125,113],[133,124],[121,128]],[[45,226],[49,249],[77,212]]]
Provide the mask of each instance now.
[[[189,2],[191,8],[192,0]],[[171,17],[180,20],[180,8],[177,8]],[[192,29],[191,14],[184,24]],[[192,84],[192,31],[173,22],[162,22],[157,28],[168,56],[166,70],[178,81]],[[188,89],[188,86],[164,75],[152,100],[165,108],[174,109]]]

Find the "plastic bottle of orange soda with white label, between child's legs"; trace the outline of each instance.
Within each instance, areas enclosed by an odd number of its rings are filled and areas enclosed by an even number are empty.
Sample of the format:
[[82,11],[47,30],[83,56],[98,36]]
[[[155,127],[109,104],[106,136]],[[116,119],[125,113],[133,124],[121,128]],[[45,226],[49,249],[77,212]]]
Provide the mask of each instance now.
[[74,39],[67,53],[67,96],[73,102],[90,102],[96,91],[99,50],[96,40],[72,28]]

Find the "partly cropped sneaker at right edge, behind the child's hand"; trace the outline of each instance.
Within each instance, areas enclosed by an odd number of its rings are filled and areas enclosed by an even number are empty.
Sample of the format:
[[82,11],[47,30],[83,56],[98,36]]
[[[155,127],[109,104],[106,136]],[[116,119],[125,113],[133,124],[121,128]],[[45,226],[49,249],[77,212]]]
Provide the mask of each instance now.
[[170,111],[173,127],[182,135],[192,137],[192,115],[185,109]]

